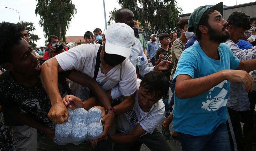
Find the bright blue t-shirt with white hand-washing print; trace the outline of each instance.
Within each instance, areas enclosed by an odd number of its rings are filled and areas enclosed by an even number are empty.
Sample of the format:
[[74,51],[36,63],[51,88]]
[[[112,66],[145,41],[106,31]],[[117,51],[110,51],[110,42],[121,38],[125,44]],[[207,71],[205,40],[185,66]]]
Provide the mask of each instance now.
[[[205,55],[199,43],[187,48],[181,55],[174,74],[190,75],[192,78],[203,77],[225,69],[236,69],[239,65],[230,48],[221,43],[218,48],[220,60]],[[205,83],[207,84],[207,83]],[[202,136],[212,133],[227,116],[227,101],[230,82],[222,81],[208,91],[191,98],[179,99],[174,93],[175,107],[173,129],[177,132]]]

